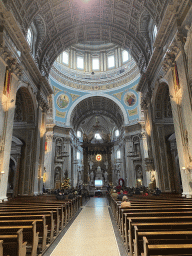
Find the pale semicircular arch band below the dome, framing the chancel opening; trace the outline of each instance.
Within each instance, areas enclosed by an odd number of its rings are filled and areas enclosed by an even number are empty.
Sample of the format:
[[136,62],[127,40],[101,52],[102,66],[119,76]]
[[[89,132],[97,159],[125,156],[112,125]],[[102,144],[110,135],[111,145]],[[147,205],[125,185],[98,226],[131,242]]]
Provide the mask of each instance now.
[[128,124],[129,121],[128,121],[128,116],[127,116],[127,113],[126,113],[126,110],[124,108],[124,106],[121,104],[121,102],[119,102],[117,99],[115,99],[113,96],[111,95],[106,95],[104,93],[98,93],[96,92],[95,93],[95,96],[93,95],[84,95],[83,97],[77,99],[73,105],[71,106],[68,114],[67,114],[67,120],[66,120],[66,126],[71,126],[71,122],[70,122],[70,119],[71,119],[71,114],[72,112],[74,111],[74,109],[77,107],[77,105],[82,102],[83,100],[85,99],[88,99],[88,98],[93,98],[93,97],[103,97],[103,98],[106,98],[106,99],[110,99],[111,101],[113,101],[116,105],[118,105],[118,107],[121,109],[121,112],[123,114],[123,119],[124,119],[124,124]]

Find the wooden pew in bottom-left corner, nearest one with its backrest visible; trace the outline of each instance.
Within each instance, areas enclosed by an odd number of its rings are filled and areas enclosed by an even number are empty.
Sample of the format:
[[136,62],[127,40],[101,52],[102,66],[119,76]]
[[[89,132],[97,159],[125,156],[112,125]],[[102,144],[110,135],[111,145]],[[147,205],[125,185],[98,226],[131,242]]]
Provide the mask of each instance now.
[[[14,234],[0,234],[1,251],[3,247],[2,255],[9,256],[26,256],[27,242],[23,242],[23,230],[19,229]],[[3,244],[3,245],[2,245]]]

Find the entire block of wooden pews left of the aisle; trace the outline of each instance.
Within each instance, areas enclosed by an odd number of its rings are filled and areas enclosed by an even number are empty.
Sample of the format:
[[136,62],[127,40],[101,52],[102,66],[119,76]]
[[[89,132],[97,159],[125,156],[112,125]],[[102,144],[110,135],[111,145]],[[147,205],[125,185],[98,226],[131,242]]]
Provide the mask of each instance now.
[[82,205],[82,197],[20,197],[0,204],[0,256],[37,256],[64,229]]

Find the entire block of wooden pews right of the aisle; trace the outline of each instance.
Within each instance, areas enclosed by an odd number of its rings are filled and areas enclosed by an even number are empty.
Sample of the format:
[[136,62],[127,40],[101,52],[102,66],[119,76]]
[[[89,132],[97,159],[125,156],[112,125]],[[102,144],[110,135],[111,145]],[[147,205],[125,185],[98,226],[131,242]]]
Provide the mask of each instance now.
[[192,255],[191,198],[134,196],[128,209],[108,198],[130,256]]

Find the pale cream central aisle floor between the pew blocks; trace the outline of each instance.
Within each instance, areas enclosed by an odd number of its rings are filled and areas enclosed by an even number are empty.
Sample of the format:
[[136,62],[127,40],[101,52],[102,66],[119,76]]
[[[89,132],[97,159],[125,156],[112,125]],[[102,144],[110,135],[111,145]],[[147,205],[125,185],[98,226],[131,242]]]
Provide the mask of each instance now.
[[91,198],[51,256],[120,256],[106,198]]

